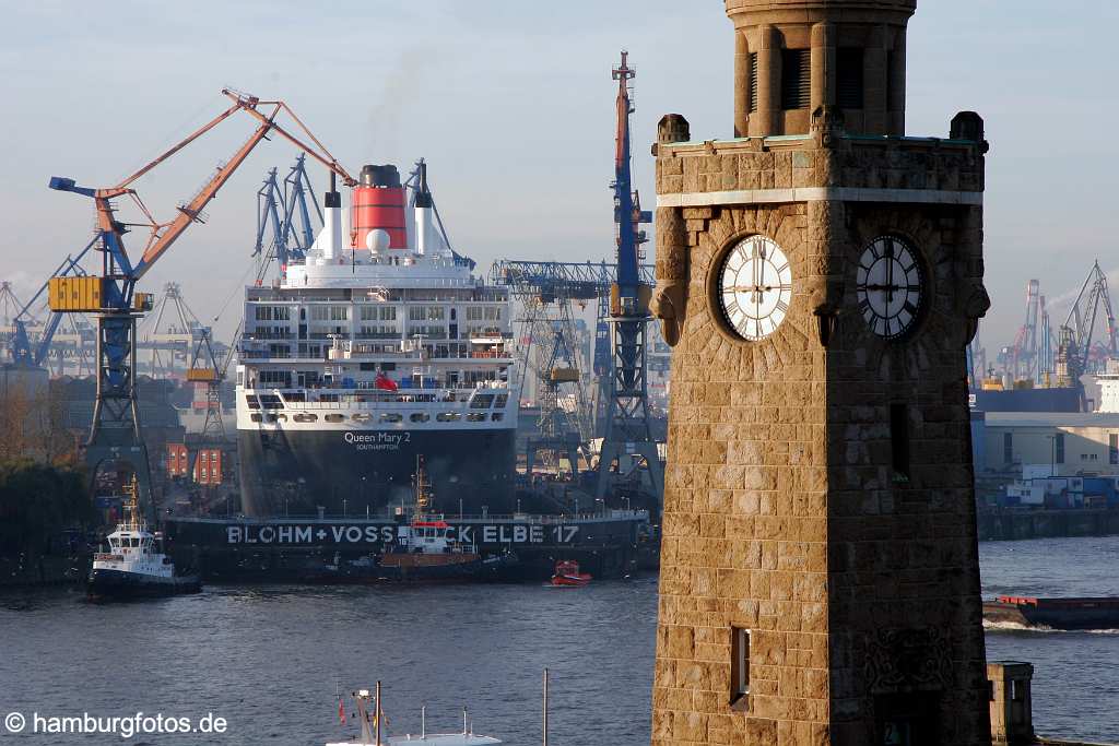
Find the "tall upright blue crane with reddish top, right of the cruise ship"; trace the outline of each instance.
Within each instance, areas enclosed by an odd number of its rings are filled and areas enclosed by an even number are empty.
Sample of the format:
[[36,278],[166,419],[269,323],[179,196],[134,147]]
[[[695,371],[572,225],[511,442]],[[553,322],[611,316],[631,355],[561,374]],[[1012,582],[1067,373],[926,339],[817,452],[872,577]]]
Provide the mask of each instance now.
[[618,275],[610,289],[612,365],[606,428],[599,452],[596,499],[604,499],[617,466],[621,472],[623,456],[645,461],[659,500],[665,490],[665,473],[657,442],[649,426],[649,391],[647,374],[649,300],[652,286],[642,282],[641,246],[648,238],[641,224],[651,223],[652,215],[641,210],[641,199],[632,186],[630,115],[630,81],[637,73],[629,66],[629,54],[622,51],[621,65],[613,68],[618,81],[618,133],[614,152],[614,224],[617,225]]

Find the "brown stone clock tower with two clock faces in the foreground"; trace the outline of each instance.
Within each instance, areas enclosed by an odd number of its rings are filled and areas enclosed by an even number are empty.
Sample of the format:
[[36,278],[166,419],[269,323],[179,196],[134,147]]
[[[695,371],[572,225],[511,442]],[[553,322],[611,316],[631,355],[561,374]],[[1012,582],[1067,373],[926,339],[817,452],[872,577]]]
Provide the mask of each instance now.
[[653,744],[989,744],[982,120],[904,135],[915,0],[726,11],[735,136],[668,115],[655,147],[676,349]]

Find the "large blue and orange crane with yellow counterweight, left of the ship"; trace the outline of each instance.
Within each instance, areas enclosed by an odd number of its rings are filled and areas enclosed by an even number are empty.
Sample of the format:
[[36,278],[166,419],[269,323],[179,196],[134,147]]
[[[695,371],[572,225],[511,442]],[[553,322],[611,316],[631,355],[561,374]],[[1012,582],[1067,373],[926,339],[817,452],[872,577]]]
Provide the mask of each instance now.
[[[331,173],[331,183],[335,176],[341,178],[349,187],[357,183],[285,103],[263,101],[228,88],[222,93],[232,102],[228,108],[120,183],[94,189],[79,187],[73,179],[60,177],[50,179],[51,189],[74,192],[94,200],[95,242],[97,251],[102,253],[100,275],[50,280],[53,311],[88,312],[96,314],[97,318],[97,389],[85,457],[94,474],[104,461],[114,460],[131,464],[140,488],[148,498],[149,509],[151,478],[147,450],[140,433],[135,387],[135,332],[137,319],[151,310],[152,303],[150,294],[137,292],[137,284],[190,225],[203,221],[203,209],[206,205],[217,196],[229,177],[270,133],[281,135],[326,166]],[[244,112],[256,120],[257,125],[252,135],[227,162],[218,167],[190,200],[178,206],[178,214],[173,219],[164,223],[157,220],[140,199],[133,185],[142,176],[237,112]],[[286,113],[295,122],[299,131],[313,144],[307,144],[301,138],[278,124],[276,119],[282,113]],[[143,223],[126,224],[117,219],[114,200],[121,198],[128,198],[135,205],[143,216]],[[133,262],[124,248],[124,234],[133,227],[147,228],[149,232],[138,262]]]

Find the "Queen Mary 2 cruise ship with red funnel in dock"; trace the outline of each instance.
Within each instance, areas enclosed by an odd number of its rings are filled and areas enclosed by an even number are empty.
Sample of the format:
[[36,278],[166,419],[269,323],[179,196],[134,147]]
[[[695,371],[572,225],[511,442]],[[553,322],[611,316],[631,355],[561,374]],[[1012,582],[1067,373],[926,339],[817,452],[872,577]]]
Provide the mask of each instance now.
[[385,516],[417,456],[446,513],[509,512],[518,393],[508,290],[455,254],[421,161],[326,193],[305,257],[245,293],[242,501],[253,517]]

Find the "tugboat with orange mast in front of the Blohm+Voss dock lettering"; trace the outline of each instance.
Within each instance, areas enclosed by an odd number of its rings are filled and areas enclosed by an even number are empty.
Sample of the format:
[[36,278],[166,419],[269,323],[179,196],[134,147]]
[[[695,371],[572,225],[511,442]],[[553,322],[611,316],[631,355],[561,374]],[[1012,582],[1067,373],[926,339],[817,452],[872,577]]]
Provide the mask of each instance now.
[[442,513],[427,512],[433,493],[423,456],[416,456],[415,506],[399,526],[396,541],[379,557],[342,561],[338,556],[319,580],[336,583],[438,583],[500,579],[518,564],[510,551],[482,556],[476,544],[451,538],[453,527]]

